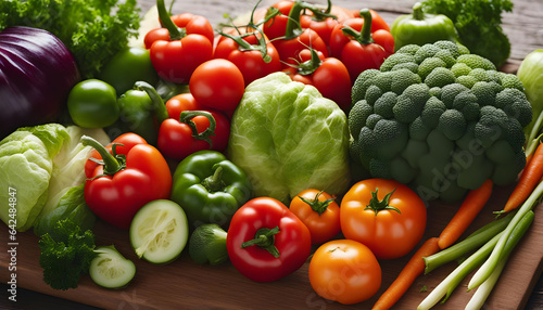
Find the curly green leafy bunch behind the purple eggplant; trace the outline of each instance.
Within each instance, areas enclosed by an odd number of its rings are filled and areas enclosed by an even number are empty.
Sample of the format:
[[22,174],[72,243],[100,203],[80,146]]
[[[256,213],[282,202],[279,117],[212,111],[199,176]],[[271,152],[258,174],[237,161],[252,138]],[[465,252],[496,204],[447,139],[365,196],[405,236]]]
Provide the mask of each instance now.
[[11,26],[46,29],[76,59],[83,78],[102,66],[138,35],[136,0],[0,0],[0,30]]

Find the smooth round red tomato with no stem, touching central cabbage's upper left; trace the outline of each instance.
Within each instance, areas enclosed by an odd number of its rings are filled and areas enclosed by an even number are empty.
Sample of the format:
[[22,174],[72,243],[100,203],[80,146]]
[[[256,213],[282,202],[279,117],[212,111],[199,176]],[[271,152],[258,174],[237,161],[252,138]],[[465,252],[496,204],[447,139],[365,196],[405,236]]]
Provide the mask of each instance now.
[[243,96],[245,82],[232,62],[216,59],[194,69],[189,89],[199,104],[218,111],[232,111]]

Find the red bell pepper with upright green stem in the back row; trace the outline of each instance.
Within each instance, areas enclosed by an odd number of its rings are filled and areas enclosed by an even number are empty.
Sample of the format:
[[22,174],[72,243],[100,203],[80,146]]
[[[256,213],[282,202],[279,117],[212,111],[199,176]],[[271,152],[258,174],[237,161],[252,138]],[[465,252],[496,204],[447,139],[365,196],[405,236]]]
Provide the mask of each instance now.
[[190,33],[188,25],[184,30],[179,30],[167,13],[164,0],[157,0],[156,5],[159,17],[168,34],[166,36],[164,30],[151,30],[146,35],[144,41],[146,46],[150,47],[151,62],[162,79],[187,83],[192,72],[212,59],[213,37],[210,38],[206,24],[199,21],[194,22],[193,27],[201,28],[200,33]]

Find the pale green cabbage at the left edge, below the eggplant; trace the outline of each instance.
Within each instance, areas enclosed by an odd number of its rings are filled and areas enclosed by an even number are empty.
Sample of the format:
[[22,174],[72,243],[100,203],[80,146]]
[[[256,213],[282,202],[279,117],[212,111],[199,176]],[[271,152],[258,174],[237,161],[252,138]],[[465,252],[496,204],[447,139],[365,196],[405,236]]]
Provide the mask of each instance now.
[[109,143],[102,129],[60,124],[20,128],[0,141],[0,219],[5,224],[28,230],[71,188],[83,184],[91,150],[79,143],[84,133]]

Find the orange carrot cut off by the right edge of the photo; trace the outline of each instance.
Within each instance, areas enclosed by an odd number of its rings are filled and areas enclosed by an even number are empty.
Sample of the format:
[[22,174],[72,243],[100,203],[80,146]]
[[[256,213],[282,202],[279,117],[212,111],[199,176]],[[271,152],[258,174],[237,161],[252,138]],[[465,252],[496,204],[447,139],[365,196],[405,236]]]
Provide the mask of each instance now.
[[516,209],[525,203],[540,182],[541,178],[543,178],[543,143],[538,145],[530,162],[527,162],[526,165],[522,173],[520,173],[517,185],[513,190],[507,203],[505,203],[503,212]]

